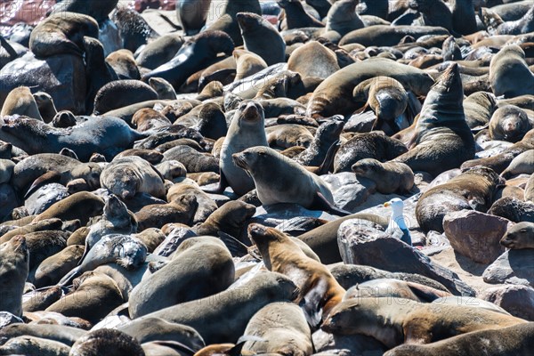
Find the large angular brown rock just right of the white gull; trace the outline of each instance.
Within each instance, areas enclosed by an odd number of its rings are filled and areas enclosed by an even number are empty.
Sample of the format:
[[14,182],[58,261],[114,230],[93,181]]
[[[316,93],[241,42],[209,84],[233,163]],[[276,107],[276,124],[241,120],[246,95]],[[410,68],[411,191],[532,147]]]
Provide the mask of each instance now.
[[475,210],[451,212],[443,218],[450,246],[476,263],[492,263],[505,252],[498,241],[511,225],[505,218]]

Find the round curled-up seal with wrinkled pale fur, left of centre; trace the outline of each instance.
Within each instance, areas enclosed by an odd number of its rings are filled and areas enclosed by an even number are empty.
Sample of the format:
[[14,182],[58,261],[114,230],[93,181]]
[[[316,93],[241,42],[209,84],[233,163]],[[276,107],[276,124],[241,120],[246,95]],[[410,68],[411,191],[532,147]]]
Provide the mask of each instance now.
[[115,158],[101,173],[101,186],[124,200],[134,198],[136,193],[165,198],[163,183],[158,170],[136,156]]

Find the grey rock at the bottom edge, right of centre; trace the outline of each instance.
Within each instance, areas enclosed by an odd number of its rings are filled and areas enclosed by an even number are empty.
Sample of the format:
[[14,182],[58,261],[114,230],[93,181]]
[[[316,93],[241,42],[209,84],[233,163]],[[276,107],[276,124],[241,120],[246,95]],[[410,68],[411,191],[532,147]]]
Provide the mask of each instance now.
[[382,355],[387,349],[373,337],[364,335],[335,335],[323,330],[312,334],[315,352],[334,352],[343,356]]

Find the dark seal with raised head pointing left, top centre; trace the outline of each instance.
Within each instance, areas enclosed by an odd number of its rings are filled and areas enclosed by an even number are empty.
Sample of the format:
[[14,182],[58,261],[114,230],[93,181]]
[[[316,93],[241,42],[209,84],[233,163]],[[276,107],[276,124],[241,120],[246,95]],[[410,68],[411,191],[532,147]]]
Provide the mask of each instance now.
[[269,21],[253,12],[236,15],[245,49],[258,54],[268,66],[286,61],[286,43]]

